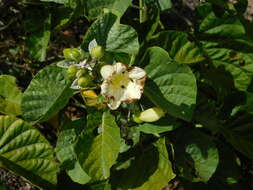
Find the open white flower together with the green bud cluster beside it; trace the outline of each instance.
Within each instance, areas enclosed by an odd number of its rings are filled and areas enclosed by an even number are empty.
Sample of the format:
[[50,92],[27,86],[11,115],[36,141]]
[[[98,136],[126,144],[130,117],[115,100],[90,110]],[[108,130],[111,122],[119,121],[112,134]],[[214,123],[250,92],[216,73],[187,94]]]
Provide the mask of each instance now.
[[[72,50],[72,51],[71,51]],[[67,68],[68,76],[73,79],[72,89],[82,90],[82,96],[89,105],[97,105],[95,100],[98,96],[95,91],[89,89],[93,81],[93,73],[96,64],[100,64],[105,54],[104,48],[99,46],[96,40],[92,40],[88,45],[90,59],[84,59],[83,53],[77,48],[68,48],[64,50],[64,57],[73,62],[70,65],[59,65]],[[83,60],[81,60],[83,59]],[[101,75],[102,84],[101,95],[104,97],[106,104],[112,110],[116,110],[122,102],[134,102],[141,98],[146,80],[146,72],[136,66],[130,67],[123,63],[117,62],[112,65],[104,65],[98,71]],[[96,75],[97,76],[97,75]],[[84,91],[92,92],[92,100]],[[94,98],[95,97],[95,98]],[[96,104],[95,104],[96,103]],[[87,105],[86,104],[86,105]]]

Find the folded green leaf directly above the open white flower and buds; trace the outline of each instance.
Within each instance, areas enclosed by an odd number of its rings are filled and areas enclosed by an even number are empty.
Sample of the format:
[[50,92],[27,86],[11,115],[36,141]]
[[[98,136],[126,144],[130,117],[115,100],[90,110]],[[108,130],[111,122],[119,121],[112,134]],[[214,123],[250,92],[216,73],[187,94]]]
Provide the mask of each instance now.
[[139,42],[136,31],[131,26],[119,24],[117,19],[112,13],[97,19],[85,34],[82,48],[88,50],[89,43],[95,39],[106,51],[137,54]]

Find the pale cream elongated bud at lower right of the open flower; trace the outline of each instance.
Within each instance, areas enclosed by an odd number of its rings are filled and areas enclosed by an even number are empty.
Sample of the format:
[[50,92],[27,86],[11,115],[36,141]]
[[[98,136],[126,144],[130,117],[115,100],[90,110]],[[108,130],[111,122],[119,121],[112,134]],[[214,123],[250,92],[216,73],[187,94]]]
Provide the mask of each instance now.
[[149,108],[140,113],[138,119],[144,122],[155,122],[165,115],[165,112],[159,107]]

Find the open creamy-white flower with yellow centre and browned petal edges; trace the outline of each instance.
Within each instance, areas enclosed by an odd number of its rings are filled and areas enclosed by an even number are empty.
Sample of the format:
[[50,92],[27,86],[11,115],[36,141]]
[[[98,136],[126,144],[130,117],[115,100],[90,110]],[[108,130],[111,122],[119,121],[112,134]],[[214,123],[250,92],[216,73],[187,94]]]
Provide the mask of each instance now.
[[133,102],[141,98],[146,80],[143,69],[116,63],[103,66],[100,73],[104,79],[101,94],[110,109],[117,109],[121,102]]

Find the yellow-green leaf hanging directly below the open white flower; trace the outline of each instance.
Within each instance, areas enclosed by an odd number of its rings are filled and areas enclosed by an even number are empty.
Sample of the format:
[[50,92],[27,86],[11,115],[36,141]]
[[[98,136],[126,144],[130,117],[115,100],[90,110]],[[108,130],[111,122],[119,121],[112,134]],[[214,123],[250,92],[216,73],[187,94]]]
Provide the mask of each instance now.
[[81,166],[92,181],[101,181],[110,176],[110,168],[120,151],[120,130],[109,112],[103,113],[100,130],[101,133],[96,137],[84,134],[76,148]]

